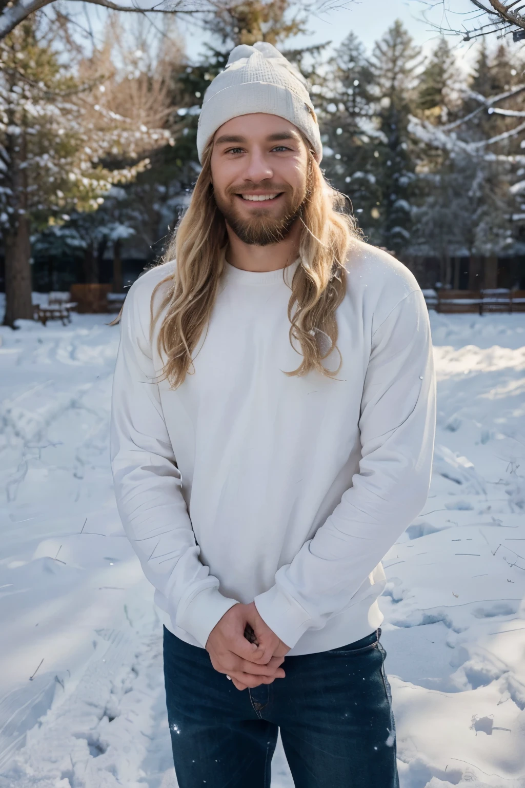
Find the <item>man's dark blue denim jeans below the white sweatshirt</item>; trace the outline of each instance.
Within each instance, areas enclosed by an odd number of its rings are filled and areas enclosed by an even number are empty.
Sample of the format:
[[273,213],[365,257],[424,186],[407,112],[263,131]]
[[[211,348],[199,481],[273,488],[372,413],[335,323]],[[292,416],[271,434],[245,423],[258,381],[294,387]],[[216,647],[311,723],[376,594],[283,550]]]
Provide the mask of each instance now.
[[270,788],[280,728],[296,788],[398,788],[381,630],[285,657],[285,678],[239,691],[205,649],[165,628],[164,671],[179,788]]

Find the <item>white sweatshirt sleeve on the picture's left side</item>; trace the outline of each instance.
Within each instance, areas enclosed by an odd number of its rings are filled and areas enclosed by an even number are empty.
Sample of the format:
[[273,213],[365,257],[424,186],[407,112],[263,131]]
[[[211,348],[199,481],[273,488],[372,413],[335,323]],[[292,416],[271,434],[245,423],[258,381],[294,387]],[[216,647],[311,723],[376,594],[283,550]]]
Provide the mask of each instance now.
[[113,379],[116,503],[146,578],[168,600],[172,621],[205,647],[213,627],[237,600],[220,593],[219,580],[199,560],[141,322],[149,303],[139,310],[137,301],[135,285],[124,303]]

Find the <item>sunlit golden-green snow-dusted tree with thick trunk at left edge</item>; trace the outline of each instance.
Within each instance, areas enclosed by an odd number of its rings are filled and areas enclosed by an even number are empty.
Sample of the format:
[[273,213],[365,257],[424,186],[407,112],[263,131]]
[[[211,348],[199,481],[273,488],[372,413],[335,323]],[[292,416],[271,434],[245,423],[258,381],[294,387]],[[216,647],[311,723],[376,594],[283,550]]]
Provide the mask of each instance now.
[[[5,249],[5,325],[31,318],[30,230],[67,221],[68,211],[96,210],[112,184],[131,180],[149,163],[144,151],[169,138],[106,105],[100,72],[72,76],[53,31],[29,17],[0,42],[0,228]],[[72,53],[71,53],[72,54]],[[81,70],[81,69],[80,69]],[[102,161],[125,152],[126,162]]]

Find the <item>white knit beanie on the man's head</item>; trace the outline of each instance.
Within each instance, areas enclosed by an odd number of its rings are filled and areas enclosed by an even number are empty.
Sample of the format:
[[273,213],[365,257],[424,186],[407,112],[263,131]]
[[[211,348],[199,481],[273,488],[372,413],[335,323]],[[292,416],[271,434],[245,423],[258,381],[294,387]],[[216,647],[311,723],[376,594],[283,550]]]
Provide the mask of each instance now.
[[284,117],[297,126],[320,162],[323,146],[306,81],[275,46],[261,41],[235,46],[226,68],[206,90],[197,129],[199,161],[217,128],[232,117],[257,112]]

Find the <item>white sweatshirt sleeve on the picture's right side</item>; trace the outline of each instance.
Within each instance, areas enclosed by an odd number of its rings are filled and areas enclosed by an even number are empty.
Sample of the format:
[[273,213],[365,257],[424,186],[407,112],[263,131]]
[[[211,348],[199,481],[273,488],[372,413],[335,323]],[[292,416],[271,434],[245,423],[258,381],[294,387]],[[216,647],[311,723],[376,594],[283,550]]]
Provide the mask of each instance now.
[[[344,354],[344,348],[342,353]],[[341,502],[255,598],[290,648],[351,604],[368,574],[427,500],[435,431],[435,378],[427,307],[401,299],[372,336],[360,409],[359,473]]]

